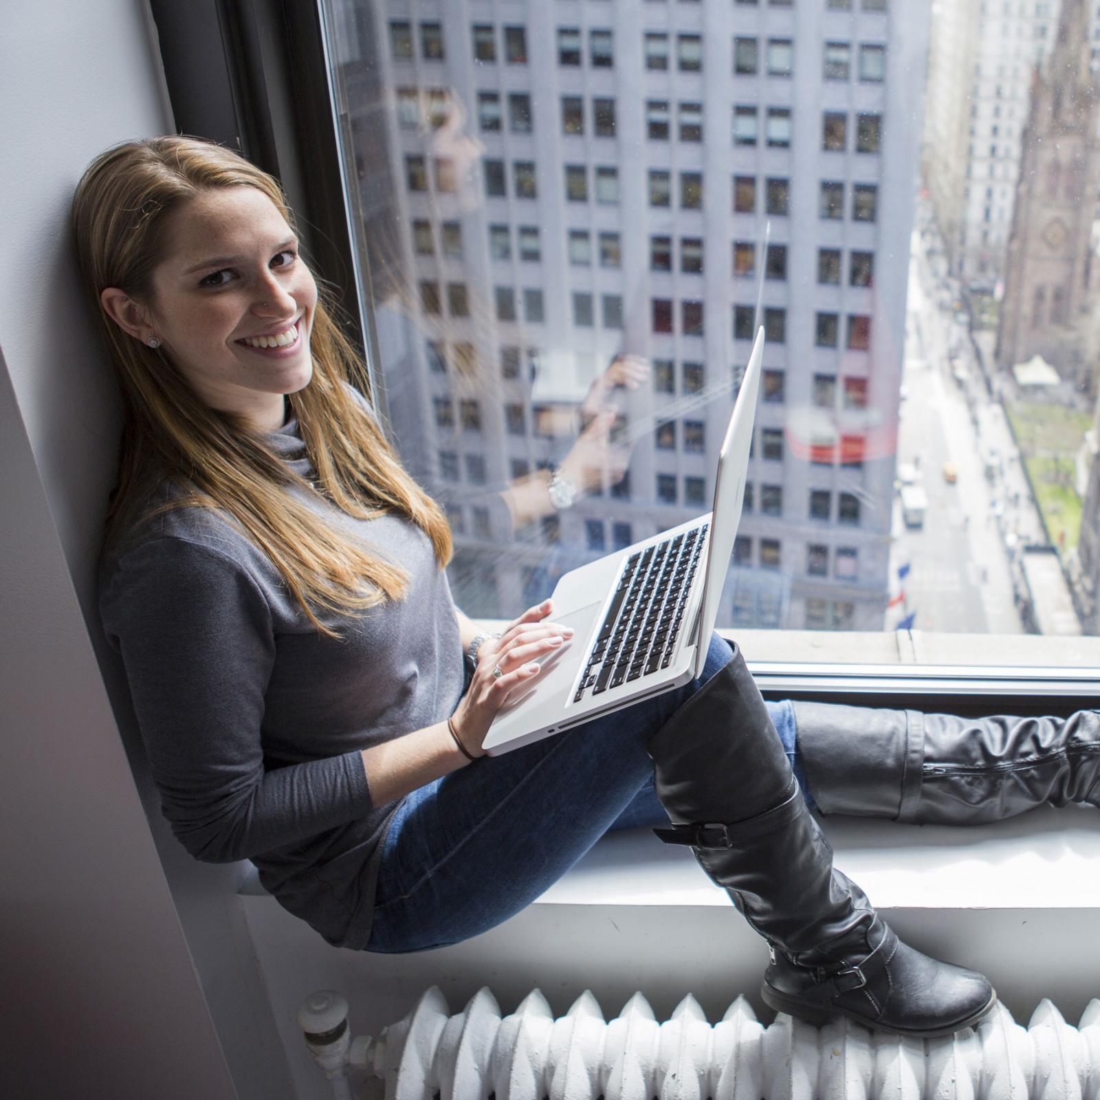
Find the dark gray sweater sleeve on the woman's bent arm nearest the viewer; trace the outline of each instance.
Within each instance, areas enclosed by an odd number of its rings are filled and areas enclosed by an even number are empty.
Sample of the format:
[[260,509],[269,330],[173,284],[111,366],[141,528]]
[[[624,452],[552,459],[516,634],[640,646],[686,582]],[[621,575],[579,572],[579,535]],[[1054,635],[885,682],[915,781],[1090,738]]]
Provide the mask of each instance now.
[[265,769],[275,639],[263,592],[232,558],[153,539],[116,564],[100,613],[122,656],[164,815],[193,856],[261,856],[371,807],[359,752]]

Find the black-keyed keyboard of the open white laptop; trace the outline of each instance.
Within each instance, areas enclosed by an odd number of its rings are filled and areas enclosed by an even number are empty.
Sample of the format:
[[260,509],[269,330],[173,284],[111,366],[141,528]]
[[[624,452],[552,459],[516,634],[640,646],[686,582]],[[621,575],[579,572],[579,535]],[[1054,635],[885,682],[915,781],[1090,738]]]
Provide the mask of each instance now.
[[710,524],[630,554],[573,696],[652,675],[672,663]]

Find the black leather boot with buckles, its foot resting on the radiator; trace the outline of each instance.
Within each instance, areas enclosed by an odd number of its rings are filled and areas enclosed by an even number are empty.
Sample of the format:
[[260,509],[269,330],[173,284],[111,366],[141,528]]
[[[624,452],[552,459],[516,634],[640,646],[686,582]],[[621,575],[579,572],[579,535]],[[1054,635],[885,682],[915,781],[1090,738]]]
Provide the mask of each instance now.
[[739,651],[653,736],[649,754],[672,823],[657,835],[691,845],[768,941],[768,1004],[917,1038],[992,1011],[997,996],[981,975],[902,944],[834,869]]

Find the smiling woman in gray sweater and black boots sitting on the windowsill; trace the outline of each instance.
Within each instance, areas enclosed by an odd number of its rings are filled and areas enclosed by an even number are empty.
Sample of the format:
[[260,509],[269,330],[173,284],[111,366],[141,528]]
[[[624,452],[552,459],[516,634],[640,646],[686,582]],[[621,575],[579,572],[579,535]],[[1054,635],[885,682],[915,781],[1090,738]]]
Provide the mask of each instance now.
[[[660,824],[768,939],[773,1007],[911,1036],[992,1010],[982,976],[899,943],[833,868],[788,759],[796,712],[774,708],[781,739],[718,639],[698,682],[479,759],[570,631],[549,603],[498,638],[453,606],[447,524],[349,384],[271,177],[201,141],[125,144],[89,167],[74,227],[125,414],[101,614],[193,855],[252,859],[332,944],[406,952],[510,916],[608,828]],[[920,816],[909,727],[842,714],[870,730],[859,768],[880,758],[853,789],[833,713],[801,730],[820,802],[892,813],[895,783]]]

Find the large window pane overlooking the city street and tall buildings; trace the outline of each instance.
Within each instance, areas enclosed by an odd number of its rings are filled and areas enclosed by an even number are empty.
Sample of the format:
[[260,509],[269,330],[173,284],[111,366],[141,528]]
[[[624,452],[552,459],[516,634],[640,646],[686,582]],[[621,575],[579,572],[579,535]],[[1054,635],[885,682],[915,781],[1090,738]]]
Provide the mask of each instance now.
[[[762,324],[719,625],[905,628],[908,566],[917,630],[1100,631],[1100,158],[1068,136],[1100,109],[1028,136],[1093,103],[1031,74],[1088,72],[1097,12],[1069,42],[1053,4],[321,6],[372,377],[466,612],[706,510]],[[520,501],[562,463],[571,508]]]

